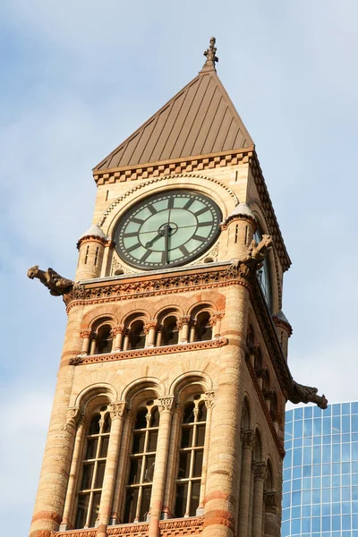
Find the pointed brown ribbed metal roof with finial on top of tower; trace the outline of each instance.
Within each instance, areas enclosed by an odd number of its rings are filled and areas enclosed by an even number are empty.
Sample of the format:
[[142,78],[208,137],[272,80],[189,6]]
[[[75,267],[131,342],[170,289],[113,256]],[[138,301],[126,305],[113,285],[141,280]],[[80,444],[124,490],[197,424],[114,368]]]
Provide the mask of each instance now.
[[215,38],[206,62],[183,90],[142,124],[95,170],[188,158],[253,146],[243,121],[219,80]]

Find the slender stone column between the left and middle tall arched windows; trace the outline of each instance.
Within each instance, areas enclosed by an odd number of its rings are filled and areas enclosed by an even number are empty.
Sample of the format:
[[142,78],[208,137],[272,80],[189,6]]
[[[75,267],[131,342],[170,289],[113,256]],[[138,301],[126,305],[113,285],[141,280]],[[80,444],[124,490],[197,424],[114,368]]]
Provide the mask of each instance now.
[[126,405],[124,401],[108,405],[112,420],[109,437],[106,470],[103,478],[102,495],[99,507],[98,537],[107,537],[107,524],[112,513],[112,500],[115,491],[115,475],[118,465],[119,446],[123,428],[123,416]]

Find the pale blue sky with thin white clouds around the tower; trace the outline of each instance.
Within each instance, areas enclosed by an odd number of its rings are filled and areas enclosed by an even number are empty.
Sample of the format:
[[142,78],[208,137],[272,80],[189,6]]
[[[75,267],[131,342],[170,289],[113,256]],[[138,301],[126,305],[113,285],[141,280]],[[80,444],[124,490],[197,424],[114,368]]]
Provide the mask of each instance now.
[[211,36],[293,261],[294,379],[358,399],[357,18],[356,0],[0,3],[4,534],[29,530],[66,323],[27,270],[74,276],[91,168],[192,80]]

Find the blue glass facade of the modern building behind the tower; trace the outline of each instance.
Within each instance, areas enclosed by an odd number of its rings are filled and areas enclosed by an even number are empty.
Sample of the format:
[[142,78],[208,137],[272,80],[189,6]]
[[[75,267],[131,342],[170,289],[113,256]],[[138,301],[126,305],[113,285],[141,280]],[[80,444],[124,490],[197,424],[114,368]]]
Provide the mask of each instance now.
[[286,412],[282,537],[358,537],[358,402]]

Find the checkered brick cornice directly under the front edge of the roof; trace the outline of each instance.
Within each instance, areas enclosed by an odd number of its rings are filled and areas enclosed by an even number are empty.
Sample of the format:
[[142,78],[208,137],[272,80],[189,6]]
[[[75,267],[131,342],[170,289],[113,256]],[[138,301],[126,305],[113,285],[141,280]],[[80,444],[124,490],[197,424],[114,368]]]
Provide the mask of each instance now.
[[108,168],[107,170],[93,170],[93,178],[99,184],[136,181],[149,179],[158,175],[183,174],[184,172],[196,172],[210,170],[227,165],[237,165],[239,162],[248,163],[253,155],[254,148],[234,149],[209,153],[208,155],[196,155],[194,157],[175,158],[150,162],[149,164]]

